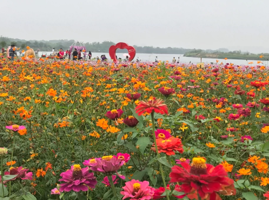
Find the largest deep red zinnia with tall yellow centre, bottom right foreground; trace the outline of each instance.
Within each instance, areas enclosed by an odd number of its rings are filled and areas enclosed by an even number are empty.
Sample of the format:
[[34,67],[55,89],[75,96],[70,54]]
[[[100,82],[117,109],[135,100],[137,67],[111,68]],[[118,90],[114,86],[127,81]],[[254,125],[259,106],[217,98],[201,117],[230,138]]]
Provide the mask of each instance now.
[[[205,164],[203,158],[193,158],[192,164],[181,163],[183,168],[173,166],[170,173],[170,182],[182,183],[181,189],[187,196],[195,198],[196,191],[202,199],[210,196],[210,199],[217,199],[220,192],[222,195],[235,195],[236,190],[233,185],[233,179],[228,178],[228,174],[222,165],[214,167]],[[229,190],[226,190],[229,188]],[[215,197],[215,198],[213,198]]]

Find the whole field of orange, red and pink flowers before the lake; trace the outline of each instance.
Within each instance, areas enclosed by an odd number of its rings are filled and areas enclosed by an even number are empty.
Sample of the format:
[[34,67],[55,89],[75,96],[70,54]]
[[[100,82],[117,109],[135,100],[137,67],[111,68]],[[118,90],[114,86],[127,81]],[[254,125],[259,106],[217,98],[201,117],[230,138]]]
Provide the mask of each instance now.
[[269,199],[269,68],[0,58],[0,200]]

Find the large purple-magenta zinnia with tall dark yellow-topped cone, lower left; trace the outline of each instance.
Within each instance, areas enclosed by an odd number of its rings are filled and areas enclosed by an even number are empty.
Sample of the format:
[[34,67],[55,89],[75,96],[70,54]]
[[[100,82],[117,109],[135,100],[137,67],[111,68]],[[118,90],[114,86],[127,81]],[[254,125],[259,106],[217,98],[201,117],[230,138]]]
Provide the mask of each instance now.
[[81,168],[80,165],[72,165],[71,169],[60,174],[62,176],[59,181],[65,183],[60,184],[60,192],[71,190],[75,192],[87,191],[88,187],[95,188],[97,181],[93,173],[89,173],[89,167]]

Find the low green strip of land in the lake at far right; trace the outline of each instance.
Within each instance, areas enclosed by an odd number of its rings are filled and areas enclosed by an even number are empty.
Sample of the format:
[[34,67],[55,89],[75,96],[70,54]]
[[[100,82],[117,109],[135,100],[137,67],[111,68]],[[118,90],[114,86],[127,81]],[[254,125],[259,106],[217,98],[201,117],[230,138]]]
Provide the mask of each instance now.
[[242,53],[241,51],[230,51],[230,52],[207,52],[205,50],[197,49],[192,50],[184,54],[185,57],[193,58],[215,58],[215,59],[238,59],[238,60],[268,60],[269,53],[254,54],[249,52]]

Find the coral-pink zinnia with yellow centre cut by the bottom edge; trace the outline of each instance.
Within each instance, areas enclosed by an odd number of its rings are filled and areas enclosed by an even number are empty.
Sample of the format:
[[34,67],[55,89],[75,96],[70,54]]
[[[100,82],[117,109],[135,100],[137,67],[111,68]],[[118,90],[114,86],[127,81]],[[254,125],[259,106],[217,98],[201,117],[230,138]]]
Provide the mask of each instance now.
[[124,191],[120,192],[120,194],[124,195],[122,199],[130,198],[129,200],[152,199],[155,191],[155,188],[149,186],[148,181],[141,182],[135,179],[126,182],[122,189],[124,189]]

